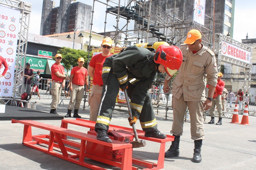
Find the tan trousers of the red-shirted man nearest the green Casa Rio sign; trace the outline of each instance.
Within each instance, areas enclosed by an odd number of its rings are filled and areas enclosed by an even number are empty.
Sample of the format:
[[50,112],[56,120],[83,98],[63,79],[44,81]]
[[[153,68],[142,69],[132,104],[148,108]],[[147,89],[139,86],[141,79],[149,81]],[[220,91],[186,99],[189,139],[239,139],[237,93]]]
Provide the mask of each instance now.
[[55,81],[52,81],[52,104],[51,109],[57,109],[57,105],[60,102],[60,94],[61,94],[61,85]]

